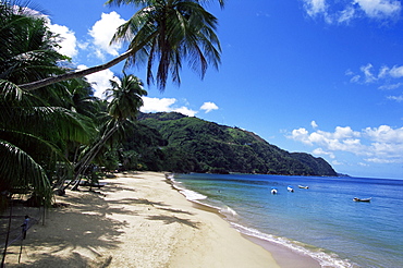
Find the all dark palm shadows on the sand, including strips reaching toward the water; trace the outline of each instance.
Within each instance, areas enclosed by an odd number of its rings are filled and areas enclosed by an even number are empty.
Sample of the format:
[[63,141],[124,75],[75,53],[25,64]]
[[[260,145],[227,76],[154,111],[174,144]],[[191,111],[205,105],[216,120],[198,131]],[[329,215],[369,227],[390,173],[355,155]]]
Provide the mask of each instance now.
[[[122,190],[135,192],[134,188],[125,187],[120,183],[108,183],[108,190],[105,193],[114,193]],[[130,223],[126,221],[118,221],[107,217],[108,215],[144,215],[144,207],[152,207],[154,212],[161,215],[145,216],[147,220],[162,221],[164,224],[180,223],[191,228],[198,229],[199,222],[190,219],[178,217],[183,215],[193,215],[188,211],[172,208],[162,202],[152,202],[146,198],[124,198],[124,199],[109,199],[105,200],[103,196],[98,193],[86,192],[85,194],[68,193],[65,200],[63,197],[59,199],[61,203],[68,203],[68,206],[59,206],[50,208],[47,212],[46,224],[34,226],[27,232],[27,239],[24,240],[24,251],[22,255],[22,264],[8,264],[8,258],[17,258],[20,252],[20,243],[9,247],[5,264],[7,267],[53,267],[57,261],[58,267],[107,267],[110,263],[111,256],[98,256],[94,251],[91,254],[96,258],[88,259],[73,251],[91,251],[98,246],[108,249],[118,248],[120,245],[120,236],[124,233],[122,229],[127,228]],[[124,208],[124,205],[132,206],[136,209]],[[24,208],[25,209],[25,208]],[[29,216],[40,218],[41,216],[37,210],[13,210],[12,229],[21,233],[21,224],[24,215],[28,211]],[[34,209],[34,208],[30,208]],[[30,212],[32,211],[32,212]],[[147,210],[146,210],[147,211]],[[4,216],[8,214],[4,212]],[[0,218],[0,243],[3,244],[5,237],[3,234],[7,232],[8,218]],[[39,220],[40,221],[40,220]],[[39,230],[40,229],[40,230]],[[46,232],[46,229],[49,232]],[[61,230],[59,233],[51,232],[52,229]],[[38,231],[36,231],[38,230]],[[40,235],[40,236],[39,236]],[[51,247],[52,251],[45,252],[44,248]],[[71,252],[66,258],[60,257],[62,251]],[[35,254],[40,254],[35,255]],[[29,256],[35,256],[37,260],[29,260]],[[94,263],[97,261],[97,263]]]

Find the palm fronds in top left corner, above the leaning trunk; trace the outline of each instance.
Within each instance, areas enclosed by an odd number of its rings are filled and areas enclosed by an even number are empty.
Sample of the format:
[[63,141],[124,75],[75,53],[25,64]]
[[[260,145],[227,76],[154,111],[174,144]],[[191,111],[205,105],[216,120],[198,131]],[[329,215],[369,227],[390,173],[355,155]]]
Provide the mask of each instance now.
[[0,2],[0,80],[24,84],[65,73],[54,35],[26,7]]

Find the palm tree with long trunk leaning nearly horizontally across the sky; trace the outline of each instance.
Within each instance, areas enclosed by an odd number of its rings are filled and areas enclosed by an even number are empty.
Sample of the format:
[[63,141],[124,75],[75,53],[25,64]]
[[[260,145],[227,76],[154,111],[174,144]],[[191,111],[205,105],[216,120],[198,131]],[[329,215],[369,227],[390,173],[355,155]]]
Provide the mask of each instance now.
[[[220,63],[220,42],[216,35],[217,19],[207,12],[198,0],[109,0],[107,4],[134,4],[142,7],[125,24],[121,25],[113,41],[127,41],[126,52],[94,68],[61,74],[32,83],[20,84],[33,90],[61,81],[99,72],[126,60],[125,66],[147,62],[147,83],[154,80],[157,66],[157,85],[164,89],[168,74],[180,84],[179,71],[186,59],[203,77],[207,66]],[[221,7],[224,1],[219,0]]]

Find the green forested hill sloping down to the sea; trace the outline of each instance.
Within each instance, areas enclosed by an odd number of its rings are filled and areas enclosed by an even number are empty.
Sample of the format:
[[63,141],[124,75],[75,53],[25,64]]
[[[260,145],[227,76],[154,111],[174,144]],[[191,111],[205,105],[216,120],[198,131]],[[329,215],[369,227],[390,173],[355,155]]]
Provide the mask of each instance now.
[[142,150],[138,163],[146,169],[337,175],[322,158],[285,151],[239,127],[176,112],[141,113],[138,121],[137,134],[125,145],[125,150]]

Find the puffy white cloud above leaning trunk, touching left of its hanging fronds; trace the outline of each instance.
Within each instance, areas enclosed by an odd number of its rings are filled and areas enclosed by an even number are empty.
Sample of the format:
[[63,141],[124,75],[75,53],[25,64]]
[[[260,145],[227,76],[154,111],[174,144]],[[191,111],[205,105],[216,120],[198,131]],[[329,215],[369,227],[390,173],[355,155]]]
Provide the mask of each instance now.
[[117,32],[117,28],[125,23],[121,16],[112,11],[109,14],[102,13],[101,19],[97,21],[89,29],[88,34],[93,37],[95,54],[99,59],[105,59],[105,54],[113,57],[119,56],[122,44],[112,44],[110,41]]

